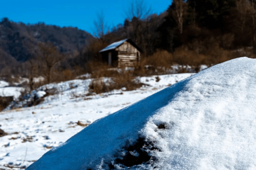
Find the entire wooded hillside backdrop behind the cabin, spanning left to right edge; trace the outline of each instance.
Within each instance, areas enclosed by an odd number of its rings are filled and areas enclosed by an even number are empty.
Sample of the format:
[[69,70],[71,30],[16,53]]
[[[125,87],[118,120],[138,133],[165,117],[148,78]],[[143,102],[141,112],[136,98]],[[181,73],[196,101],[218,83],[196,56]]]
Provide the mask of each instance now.
[[[158,15],[146,1],[132,1],[124,22],[112,28],[101,12],[94,16],[94,36],[72,27],[25,25],[3,18],[0,74],[42,75],[57,81],[44,73],[55,71],[60,80],[60,73],[71,79],[99,71],[107,68],[100,49],[125,38],[143,50],[136,75],[166,73],[175,64],[198,71],[202,64],[212,66],[242,56],[256,58],[256,0],[173,0],[166,8]],[[56,59],[48,67],[46,58],[51,55]]]

